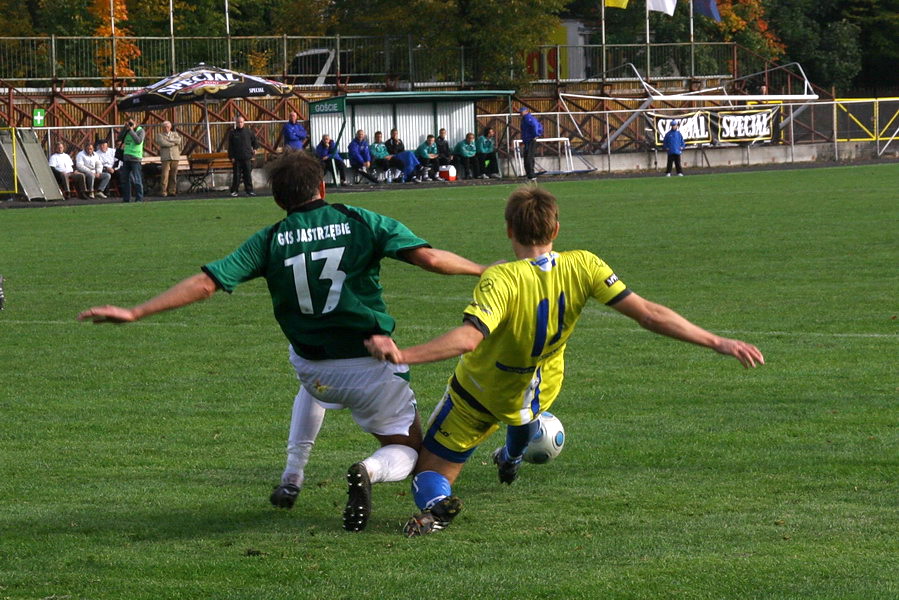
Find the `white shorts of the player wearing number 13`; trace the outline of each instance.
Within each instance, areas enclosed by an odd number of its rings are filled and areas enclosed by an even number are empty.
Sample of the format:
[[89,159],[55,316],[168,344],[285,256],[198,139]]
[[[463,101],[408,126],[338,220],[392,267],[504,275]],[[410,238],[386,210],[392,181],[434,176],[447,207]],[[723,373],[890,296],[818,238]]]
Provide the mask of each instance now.
[[327,409],[350,409],[367,433],[408,435],[416,415],[415,394],[400,374],[408,365],[371,357],[306,360],[290,347],[290,363],[307,393]]

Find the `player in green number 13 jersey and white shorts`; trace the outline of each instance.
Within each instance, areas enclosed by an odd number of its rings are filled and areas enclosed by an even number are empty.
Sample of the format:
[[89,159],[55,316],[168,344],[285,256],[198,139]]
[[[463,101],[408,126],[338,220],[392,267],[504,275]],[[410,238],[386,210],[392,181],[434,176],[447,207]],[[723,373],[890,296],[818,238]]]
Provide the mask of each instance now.
[[431,248],[399,221],[325,202],[322,175],[319,161],[309,154],[286,154],[270,170],[275,202],[287,212],[284,219],[143,304],[130,309],[97,306],[78,319],[137,321],[265,278],[300,380],[287,465],[270,500],[282,508],[294,505],[325,410],[348,408],[381,444],[347,473],[344,528],[359,531],[368,522],[371,484],[405,479],[422,437],[408,367],[379,362],[365,348],[367,338],[389,336],[395,326],[381,297],[380,261],[398,259],[446,275],[480,275],[484,267]]

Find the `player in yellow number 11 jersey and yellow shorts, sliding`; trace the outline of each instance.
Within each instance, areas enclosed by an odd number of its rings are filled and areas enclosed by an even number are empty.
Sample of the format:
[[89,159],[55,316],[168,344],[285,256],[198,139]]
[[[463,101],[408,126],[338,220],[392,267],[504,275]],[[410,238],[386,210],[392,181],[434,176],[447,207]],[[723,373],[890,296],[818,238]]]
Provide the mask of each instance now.
[[508,426],[506,443],[494,451],[493,462],[500,482],[515,481],[538,415],[561,390],[565,345],[590,298],[650,331],[731,355],[744,367],[764,364],[755,346],[717,336],[641,298],[594,254],[554,252],[559,211],[549,192],[518,189],[509,197],[505,217],[518,260],[484,271],[460,327],[404,350],[387,336],[366,342],[375,358],[403,365],[461,355],[431,415],[415,467],[412,492],[421,512],[406,524],[408,536],[449,525],[462,508],[452,484],[500,423]]

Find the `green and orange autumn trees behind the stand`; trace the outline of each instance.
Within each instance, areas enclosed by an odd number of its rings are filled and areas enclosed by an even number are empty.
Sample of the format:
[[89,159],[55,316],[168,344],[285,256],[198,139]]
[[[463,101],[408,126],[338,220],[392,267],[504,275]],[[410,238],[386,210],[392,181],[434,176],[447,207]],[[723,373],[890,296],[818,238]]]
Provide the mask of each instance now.
[[[645,41],[645,0],[609,8],[610,44]],[[673,18],[650,14],[654,42],[689,39],[690,0]],[[396,36],[417,56],[458,62],[464,46],[471,78],[517,83],[521,62],[545,44],[558,15],[598,26],[601,0],[230,0],[232,36]],[[112,3],[117,31],[169,34],[169,0],[0,0],[7,36],[92,36],[108,28]],[[717,0],[722,21],[695,18],[699,41],[735,41],[753,52],[797,61],[813,81],[848,89],[899,87],[899,0]],[[225,34],[223,0],[173,0],[177,36]],[[598,39],[594,39],[598,42]],[[262,61],[262,55],[256,57]],[[418,60],[418,58],[416,59]],[[448,67],[447,67],[448,68]]]

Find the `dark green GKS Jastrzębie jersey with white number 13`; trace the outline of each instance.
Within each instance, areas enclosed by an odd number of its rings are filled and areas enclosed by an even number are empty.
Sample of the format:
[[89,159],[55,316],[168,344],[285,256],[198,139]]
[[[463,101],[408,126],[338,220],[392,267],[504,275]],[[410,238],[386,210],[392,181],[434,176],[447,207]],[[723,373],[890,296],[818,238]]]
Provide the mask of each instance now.
[[203,271],[229,293],[264,277],[275,319],[303,358],[355,358],[369,355],[366,338],[396,325],[381,297],[381,259],[421,247],[430,246],[399,221],[317,200]]

